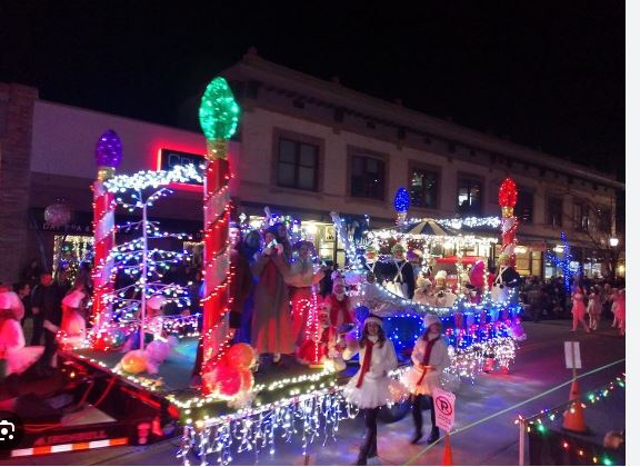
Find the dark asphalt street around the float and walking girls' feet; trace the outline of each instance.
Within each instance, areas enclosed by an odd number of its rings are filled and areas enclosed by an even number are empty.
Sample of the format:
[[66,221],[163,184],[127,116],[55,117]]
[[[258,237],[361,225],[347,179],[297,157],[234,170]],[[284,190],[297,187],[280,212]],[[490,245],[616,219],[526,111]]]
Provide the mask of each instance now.
[[[569,399],[571,370],[564,367],[566,340],[578,340],[581,346],[582,369],[579,375],[607,366],[626,357],[626,339],[602,322],[602,329],[586,334],[570,331],[571,321],[549,320],[524,322],[528,339],[520,344],[516,364],[511,371],[482,374],[473,384],[463,382],[456,400],[456,429],[451,436],[454,465],[518,465],[518,415],[531,416],[544,408],[556,407]],[[624,362],[609,366],[579,379],[581,393],[598,389],[624,371]],[[537,396],[549,391],[542,397]],[[529,400],[536,398],[533,400]],[[513,406],[521,405],[518,408]],[[623,429],[626,416],[624,390],[618,391],[607,405],[606,417],[598,407],[586,409],[587,425],[599,420],[603,429]],[[497,415],[499,414],[499,415]],[[497,416],[496,416],[497,415]],[[493,418],[490,418],[494,416]],[[487,419],[489,418],[489,419]],[[424,413],[426,435],[429,433],[429,414]],[[607,426],[608,425],[608,426]],[[466,428],[468,427],[468,428]],[[309,457],[296,443],[278,443],[276,454],[268,451],[256,457],[253,454],[237,455],[232,465],[351,465],[358,455],[364,424],[361,417],[340,425],[338,441],[328,441],[324,447],[311,445]],[[409,443],[413,433],[410,416],[394,424],[379,424],[379,457],[370,465],[441,465],[443,441],[428,446],[427,436],[419,445]],[[596,435],[600,436],[600,435]],[[179,439],[147,447],[122,447],[96,449],[84,453],[58,454],[3,460],[6,465],[179,465],[176,458]],[[528,458],[526,458],[528,464]]]

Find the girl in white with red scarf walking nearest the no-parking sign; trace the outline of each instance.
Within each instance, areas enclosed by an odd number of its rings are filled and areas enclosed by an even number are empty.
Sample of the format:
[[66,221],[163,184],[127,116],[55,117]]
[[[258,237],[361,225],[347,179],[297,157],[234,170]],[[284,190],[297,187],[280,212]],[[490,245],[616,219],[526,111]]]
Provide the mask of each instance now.
[[427,443],[436,443],[440,438],[440,430],[436,426],[436,411],[433,410],[433,389],[441,387],[442,370],[451,365],[447,341],[442,337],[442,321],[436,315],[426,315],[424,334],[416,341],[411,360],[413,367],[402,376],[402,382],[411,393],[413,426],[416,431],[411,444],[418,444],[422,438],[422,401],[429,398],[431,410],[431,434]]

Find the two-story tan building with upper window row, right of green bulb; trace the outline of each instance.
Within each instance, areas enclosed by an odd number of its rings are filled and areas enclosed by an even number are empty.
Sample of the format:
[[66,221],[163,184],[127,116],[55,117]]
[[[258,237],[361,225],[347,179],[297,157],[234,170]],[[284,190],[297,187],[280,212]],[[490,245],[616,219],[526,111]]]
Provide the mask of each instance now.
[[616,195],[624,190],[612,175],[286,69],[254,51],[222,74],[243,109],[239,196],[249,209],[269,200],[302,218],[367,212],[373,226],[389,226],[393,196],[404,186],[409,217],[499,216],[498,188],[511,177],[520,193],[520,272],[558,274],[544,254],[562,248],[564,231],[584,272],[609,276],[609,241],[622,237]]

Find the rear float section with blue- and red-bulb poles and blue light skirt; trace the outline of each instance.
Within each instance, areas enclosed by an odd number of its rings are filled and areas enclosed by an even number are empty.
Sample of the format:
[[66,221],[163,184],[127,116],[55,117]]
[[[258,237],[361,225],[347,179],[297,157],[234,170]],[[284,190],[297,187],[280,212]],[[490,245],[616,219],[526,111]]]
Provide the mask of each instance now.
[[[434,314],[443,324],[452,365],[447,376],[454,387],[459,378],[473,378],[481,371],[508,372],[516,358],[517,342],[526,338],[520,324],[517,288],[500,280],[514,259],[517,219],[513,206],[518,197],[511,179],[499,190],[502,218],[411,219],[406,220],[407,191],[398,190],[394,228],[379,229],[354,244],[337,212],[332,219],[349,256],[349,284],[360,314],[373,312],[384,319],[386,332],[399,357],[409,357],[422,334],[426,314]],[[494,275],[489,265],[497,257],[501,236],[500,261]],[[398,287],[400,269],[378,274],[393,265],[393,250],[412,255],[414,292]],[[396,272],[398,271],[398,272]],[[394,280],[396,279],[396,280]],[[497,280],[498,279],[498,280]],[[393,284],[396,282],[396,284]]]

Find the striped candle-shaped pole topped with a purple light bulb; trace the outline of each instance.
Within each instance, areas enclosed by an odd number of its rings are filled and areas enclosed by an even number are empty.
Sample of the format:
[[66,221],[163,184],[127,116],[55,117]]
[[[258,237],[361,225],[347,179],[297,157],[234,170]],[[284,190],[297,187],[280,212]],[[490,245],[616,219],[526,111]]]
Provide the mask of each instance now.
[[113,193],[104,187],[104,181],[116,173],[116,168],[122,161],[122,142],[118,133],[107,130],[96,145],[96,163],[98,176],[92,185],[93,190],[93,310],[91,320],[99,331],[110,320],[111,304],[106,300],[113,292],[111,271],[113,259],[109,254],[116,246],[116,201]]

